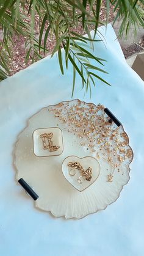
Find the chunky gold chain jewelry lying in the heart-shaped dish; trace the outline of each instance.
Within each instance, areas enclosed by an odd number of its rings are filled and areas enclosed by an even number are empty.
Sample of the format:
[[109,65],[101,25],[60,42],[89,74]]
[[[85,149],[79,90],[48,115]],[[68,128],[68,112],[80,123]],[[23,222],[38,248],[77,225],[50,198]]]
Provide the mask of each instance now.
[[[88,167],[87,170],[84,170],[84,168],[82,167],[82,165],[78,162],[69,162],[68,163],[69,167],[72,167],[74,169],[79,170],[79,172],[81,173],[81,176],[85,178],[85,180],[90,181],[92,178],[92,167]],[[80,176],[80,177],[81,177]],[[78,179],[79,180],[79,179]]]

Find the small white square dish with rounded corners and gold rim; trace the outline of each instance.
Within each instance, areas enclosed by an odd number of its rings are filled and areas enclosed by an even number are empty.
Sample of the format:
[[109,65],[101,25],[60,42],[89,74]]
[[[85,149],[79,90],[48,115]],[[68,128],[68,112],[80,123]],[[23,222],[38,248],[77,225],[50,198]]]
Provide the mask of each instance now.
[[40,128],[33,133],[35,156],[59,156],[63,152],[62,131],[60,128]]

